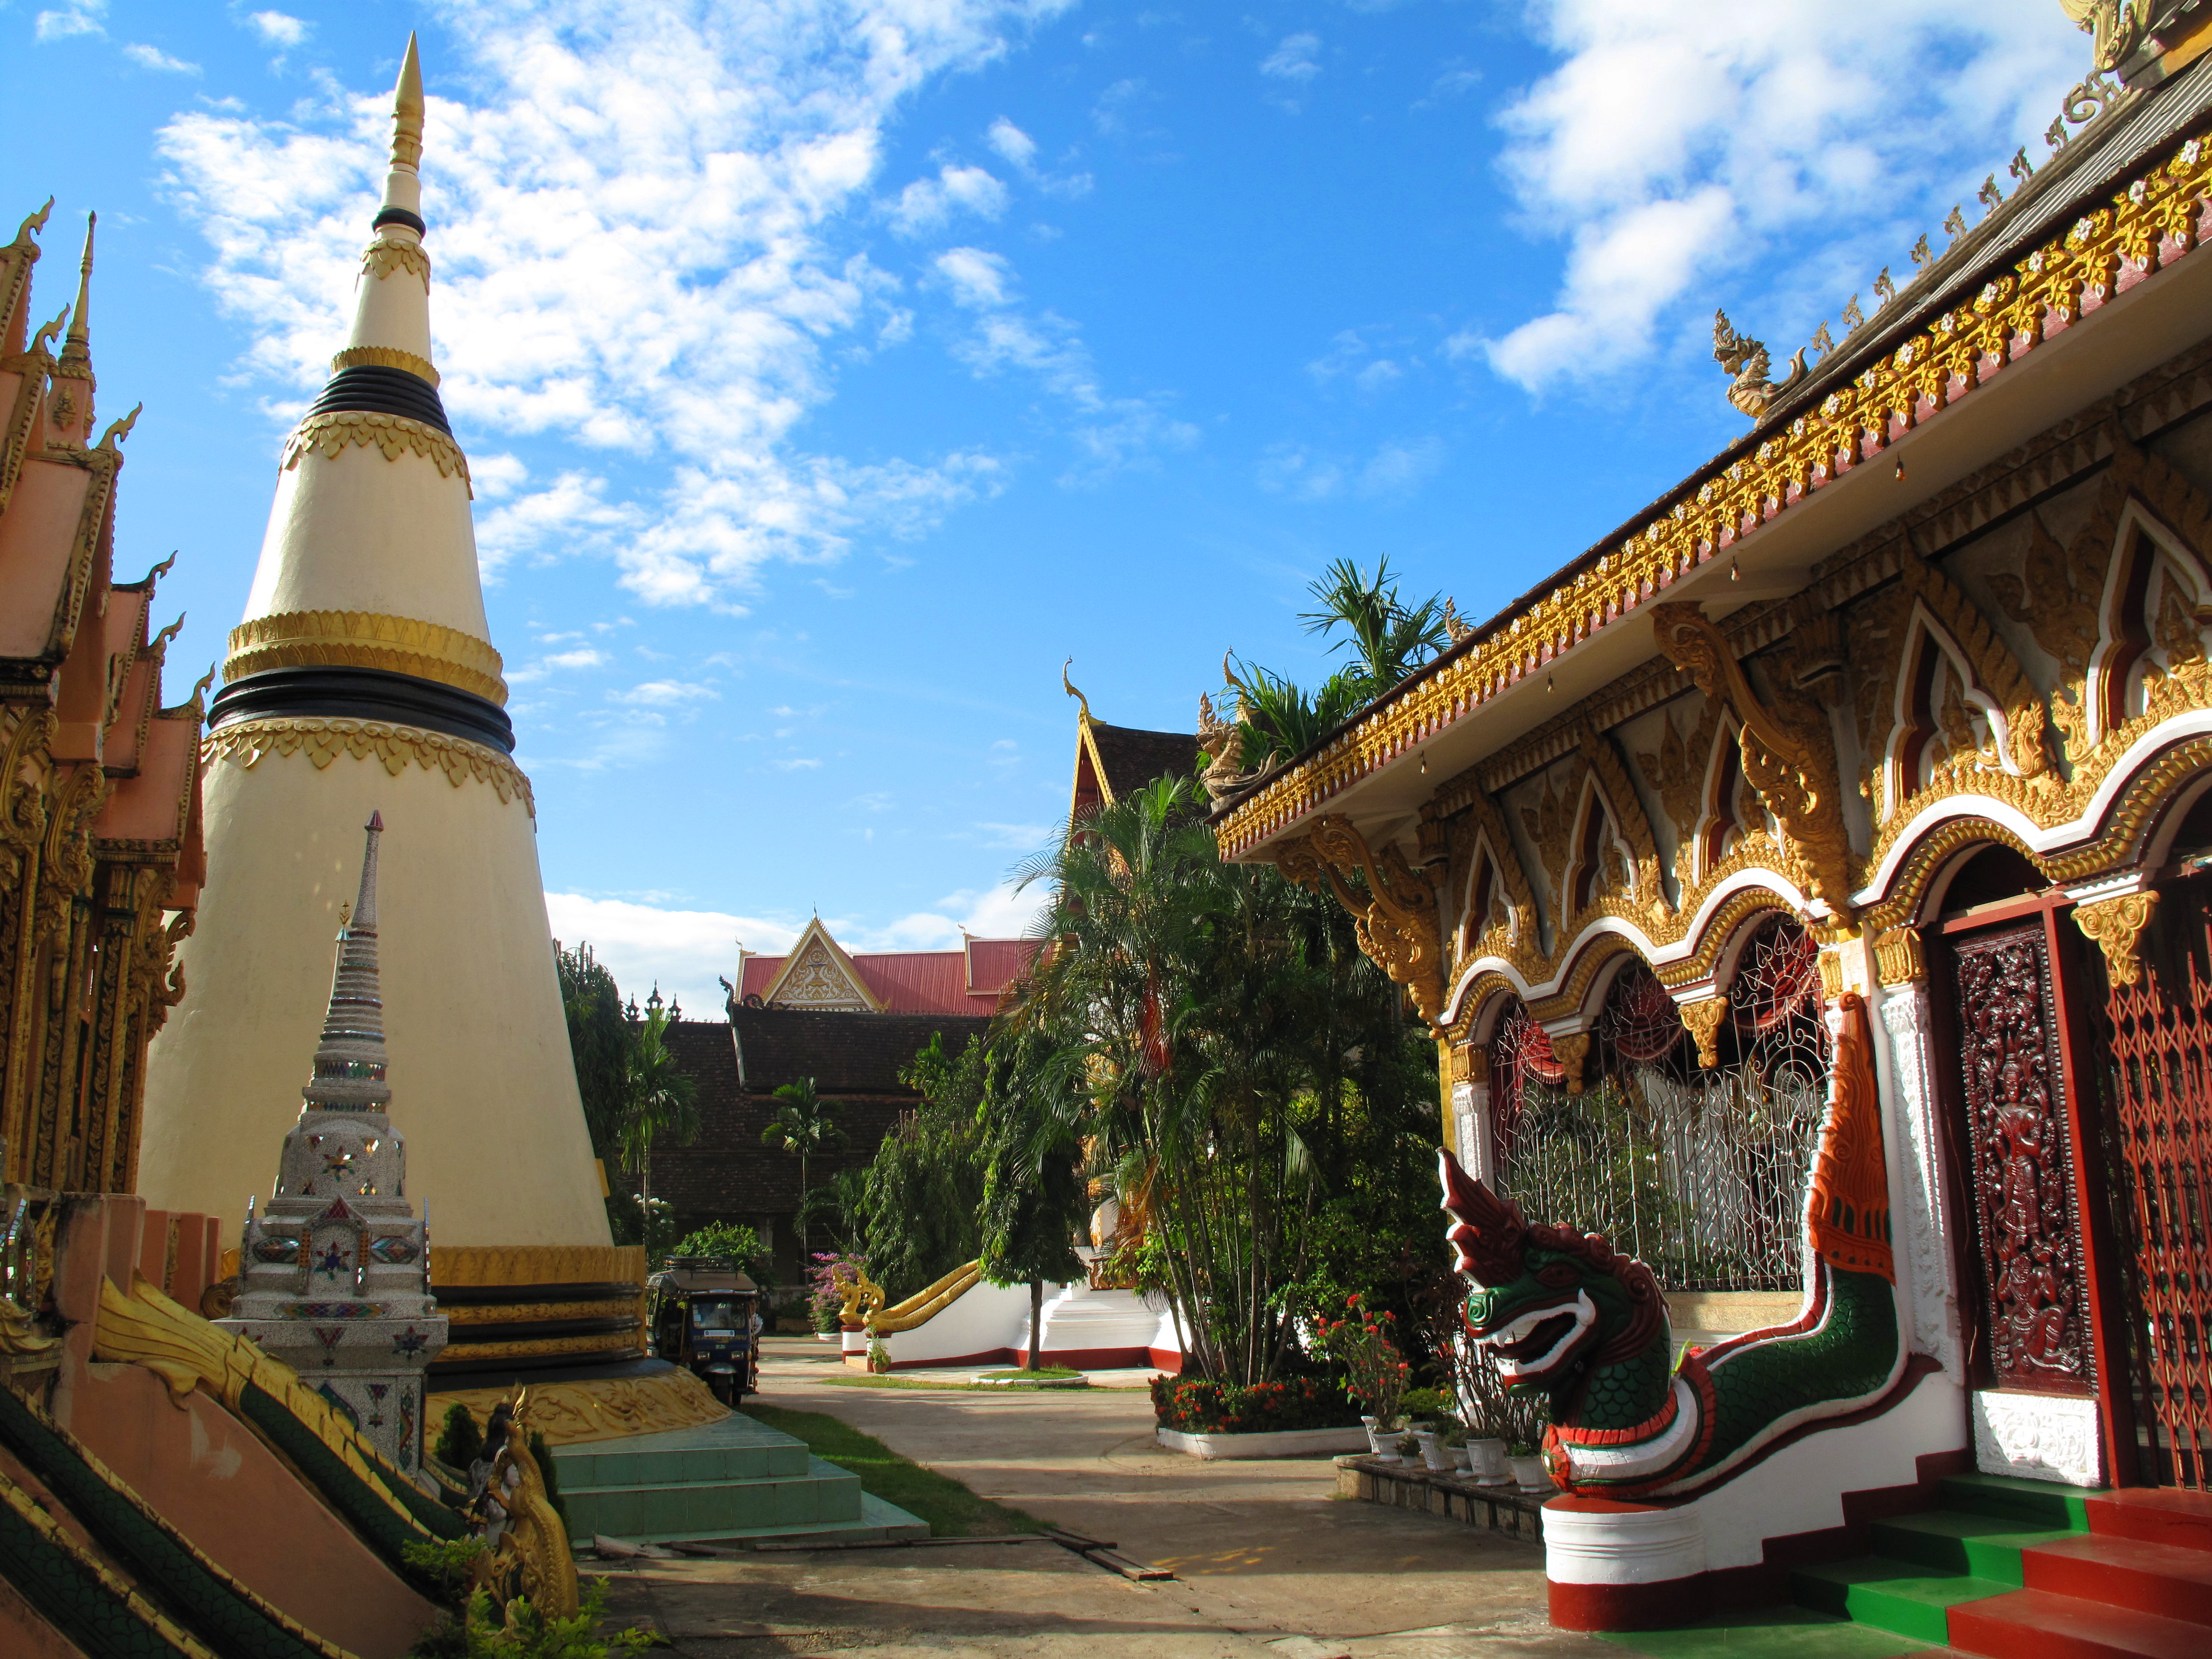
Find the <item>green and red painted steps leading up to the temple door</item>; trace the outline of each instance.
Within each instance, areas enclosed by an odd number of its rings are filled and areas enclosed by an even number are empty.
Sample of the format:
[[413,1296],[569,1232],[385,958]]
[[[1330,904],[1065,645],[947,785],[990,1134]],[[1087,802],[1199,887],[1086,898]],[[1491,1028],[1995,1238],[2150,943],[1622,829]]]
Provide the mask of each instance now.
[[1798,1606],[1986,1659],[2212,1655],[2212,1498],[1951,1475],[1874,1553],[1792,1575]]

